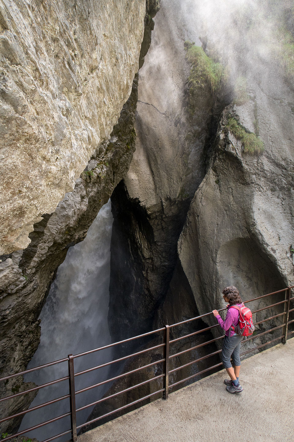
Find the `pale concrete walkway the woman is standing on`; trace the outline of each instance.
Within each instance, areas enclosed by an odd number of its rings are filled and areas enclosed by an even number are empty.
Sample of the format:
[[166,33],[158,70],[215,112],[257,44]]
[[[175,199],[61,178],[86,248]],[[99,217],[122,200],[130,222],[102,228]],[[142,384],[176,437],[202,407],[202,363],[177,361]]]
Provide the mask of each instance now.
[[242,362],[242,393],[215,373],[130,412],[78,442],[294,442],[294,338]]

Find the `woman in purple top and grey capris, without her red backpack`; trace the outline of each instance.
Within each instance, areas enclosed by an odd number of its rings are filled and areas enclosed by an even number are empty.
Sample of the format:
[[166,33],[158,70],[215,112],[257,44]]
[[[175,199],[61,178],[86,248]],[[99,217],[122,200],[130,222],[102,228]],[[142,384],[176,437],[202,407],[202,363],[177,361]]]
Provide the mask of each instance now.
[[[234,332],[234,326],[238,325],[239,312],[237,309],[229,308],[230,305],[242,306],[239,290],[234,286],[225,287],[223,289],[223,299],[228,303],[226,319],[223,321],[217,310],[213,310],[212,313],[219,321],[221,328],[225,330],[221,360],[231,379],[225,379],[224,383],[227,385],[227,391],[229,393],[240,393],[243,391],[239,384],[241,367],[240,347],[243,336],[237,335]],[[234,368],[231,364],[231,358],[233,359]]]

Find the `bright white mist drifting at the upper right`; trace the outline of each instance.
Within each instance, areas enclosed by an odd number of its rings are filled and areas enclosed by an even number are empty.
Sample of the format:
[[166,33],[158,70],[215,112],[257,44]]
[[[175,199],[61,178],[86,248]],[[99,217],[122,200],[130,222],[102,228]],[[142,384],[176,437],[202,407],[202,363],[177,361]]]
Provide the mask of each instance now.
[[[200,37],[208,56],[228,67],[233,86],[239,75],[250,77],[261,65],[277,71],[285,68],[284,45],[292,37],[293,2],[186,0],[180,9],[186,30],[194,28],[195,43],[199,44]],[[191,38],[191,31],[185,38]]]

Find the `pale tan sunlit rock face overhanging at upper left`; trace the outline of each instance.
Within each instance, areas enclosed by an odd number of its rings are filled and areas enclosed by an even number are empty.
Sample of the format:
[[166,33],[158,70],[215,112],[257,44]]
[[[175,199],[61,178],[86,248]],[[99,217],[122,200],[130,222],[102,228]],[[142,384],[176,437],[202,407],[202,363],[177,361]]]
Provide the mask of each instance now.
[[26,248],[107,140],[138,71],[145,0],[0,7],[0,254]]

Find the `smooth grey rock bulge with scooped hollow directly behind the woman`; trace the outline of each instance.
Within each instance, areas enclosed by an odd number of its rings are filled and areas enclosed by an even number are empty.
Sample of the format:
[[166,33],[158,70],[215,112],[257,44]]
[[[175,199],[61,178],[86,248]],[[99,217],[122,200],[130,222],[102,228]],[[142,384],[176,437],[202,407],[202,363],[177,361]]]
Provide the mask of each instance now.
[[[285,88],[285,92],[291,97],[290,90]],[[223,306],[224,286],[239,287],[246,300],[294,283],[290,253],[293,189],[289,185],[294,158],[290,143],[287,146],[282,136],[285,107],[276,109],[272,121],[264,107],[268,100],[259,104],[260,115],[267,116],[260,122],[264,155],[252,158],[242,154],[240,141],[227,133],[227,109],[210,167],[191,203],[179,240],[179,258],[201,314],[215,305]],[[271,107],[275,107],[274,99]],[[242,114],[242,109],[238,111]],[[249,126],[249,122],[242,122]],[[276,127],[277,138],[270,141],[269,128],[274,124],[280,126]],[[286,126],[288,131],[289,120]],[[254,307],[262,305],[259,301]],[[262,312],[257,317],[261,319]]]

